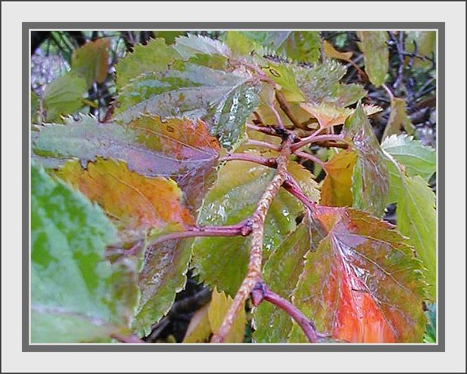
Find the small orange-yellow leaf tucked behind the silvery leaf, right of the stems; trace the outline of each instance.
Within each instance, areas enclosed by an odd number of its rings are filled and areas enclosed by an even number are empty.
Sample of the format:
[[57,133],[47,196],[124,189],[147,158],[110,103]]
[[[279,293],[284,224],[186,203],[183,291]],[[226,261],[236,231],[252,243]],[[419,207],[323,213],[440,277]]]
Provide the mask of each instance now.
[[326,177],[321,187],[321,205],[352,206],[352,174],[355,151],[341,151],[326,162]]

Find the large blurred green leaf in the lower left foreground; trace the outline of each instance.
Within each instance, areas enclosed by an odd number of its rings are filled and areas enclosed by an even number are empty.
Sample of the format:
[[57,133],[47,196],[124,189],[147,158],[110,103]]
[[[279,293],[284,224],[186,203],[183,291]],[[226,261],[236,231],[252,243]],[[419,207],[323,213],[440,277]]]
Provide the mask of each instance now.
[[128,333],[135,300],[119,290],[122,268],[104,259],[116,240],[111,222],[34,165],[31,188],[32,342],[99,342]]

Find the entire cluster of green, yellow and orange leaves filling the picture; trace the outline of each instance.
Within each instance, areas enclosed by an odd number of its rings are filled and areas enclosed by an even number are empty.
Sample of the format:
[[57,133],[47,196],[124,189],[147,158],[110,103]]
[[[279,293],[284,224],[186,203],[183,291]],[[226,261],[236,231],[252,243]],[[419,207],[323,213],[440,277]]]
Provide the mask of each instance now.
[[[383,85],[387,32],[358,36],[369,81]],[[436,300],[427,184],[436,157],[400,133],[410,131],[404,102],[391,97],[380,144],[368,118],[380,108],[362,104],[360,85],[341,83],[339,61],[352,61],[352,52],[319,32],[230,31],[221,39],[164,34],[135,46],[115,67],[106,122],[62,115],[105,79],[108,40],[76,50],[71,72],[47,87],[43,122],[32,126],[32,342],[148,336],[189,269],[213,294],[184,342],[216,333],[247,272],[251,238],[176,234],[236,225],[255,212],[276,171],[251,160],[277,157],[280,137],[247,123],[283,124],[301,137],[288,173],[319,204],[310,212],[286,190],[273,199],[264,282],[331,340],[422,342],[424,304]],[[318,133],[339,139],[317,160],[322,183],[301,165],[317,159],[306,140]],[[396,228],[382,220],[389,203],[397,204]],[[253,342],[307,341],[273,305],[251,313]],[[227,342],[244,340],[247,318],[242,311]]]

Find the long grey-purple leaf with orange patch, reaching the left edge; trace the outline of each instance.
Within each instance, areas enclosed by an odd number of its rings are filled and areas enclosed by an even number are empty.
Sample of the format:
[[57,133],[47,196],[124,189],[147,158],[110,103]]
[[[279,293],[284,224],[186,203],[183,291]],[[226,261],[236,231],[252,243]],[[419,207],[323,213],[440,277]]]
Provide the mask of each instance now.
[[73,158],[85,165],[99,156],[124,160],[130,170],[148,177],[173,177],[195,207],[209,187],[220,151],[202,121],[161,121],[148,115],[127,125],[82,117],[65,126],[45,126],[34,132],[32,147],[34,157],[52,168]]

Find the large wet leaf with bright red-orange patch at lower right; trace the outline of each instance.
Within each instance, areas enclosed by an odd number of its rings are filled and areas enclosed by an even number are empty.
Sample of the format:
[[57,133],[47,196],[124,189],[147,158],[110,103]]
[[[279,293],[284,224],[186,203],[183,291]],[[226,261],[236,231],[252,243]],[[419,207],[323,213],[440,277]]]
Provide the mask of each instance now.
[[[293,303],[318,331],[348,342],[420,342],[422,265],[385,221],[351,208],[318,206],[328,232],[306,263]],[[291,342],[306,338],[294,325]]]

